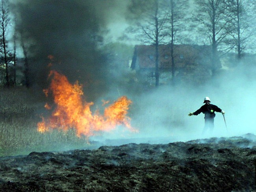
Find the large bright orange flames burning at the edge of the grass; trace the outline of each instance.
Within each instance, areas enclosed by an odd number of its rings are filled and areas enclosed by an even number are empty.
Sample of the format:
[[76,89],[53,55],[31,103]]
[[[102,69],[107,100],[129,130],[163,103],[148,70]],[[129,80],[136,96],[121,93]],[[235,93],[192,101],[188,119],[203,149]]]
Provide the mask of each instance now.
[[[126,126],[130,131],[137,131],[132,128],[130,118],[126,116],[132,103],[126,96],[106,107],[104,115],[99,111],[93,114],[90,107],[94,103],[83,102],[82,85],[79,85],[78,81],[72,85],[66,76],[53,70],[50,76],[52,77],[50,88],[44,92],[46,96],[52,94],[56,107],[50,118],[42,117],[42,122],[37,124],[38,131],[45,132],[55,128],[67,131],[75,128],[78,137],[81,135],[90,137],[99,131],[115,129],[119,125]],[[104,104],[107,103],[104,101]],[[46,103],[45,108],[51,109],[51,106]]]

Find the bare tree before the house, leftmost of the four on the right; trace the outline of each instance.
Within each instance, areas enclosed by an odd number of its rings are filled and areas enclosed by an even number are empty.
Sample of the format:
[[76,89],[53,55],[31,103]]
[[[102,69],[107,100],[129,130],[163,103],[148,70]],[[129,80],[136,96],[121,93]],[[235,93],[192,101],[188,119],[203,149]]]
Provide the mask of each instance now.
[[134,22],[132,32],[145,44],[155,46],[155,78],[159,85],[159,44],[167,37],[167,10],[161,0],[132,0],[129,20]]

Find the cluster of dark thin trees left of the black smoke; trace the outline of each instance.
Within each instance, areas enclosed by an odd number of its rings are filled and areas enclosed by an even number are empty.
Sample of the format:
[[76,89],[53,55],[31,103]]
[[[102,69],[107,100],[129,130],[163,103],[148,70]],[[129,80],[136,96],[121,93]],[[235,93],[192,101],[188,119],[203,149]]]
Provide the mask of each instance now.
[[[27,50],[21,31],[15,27],[16,19],[11,14],[9,1],[0,0],[0,84],[6,87],[15,85],[29,87]],[[24,55],[22,58],[17,57],[17,42],[22,48]]]

